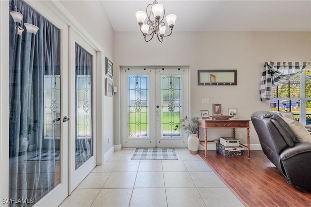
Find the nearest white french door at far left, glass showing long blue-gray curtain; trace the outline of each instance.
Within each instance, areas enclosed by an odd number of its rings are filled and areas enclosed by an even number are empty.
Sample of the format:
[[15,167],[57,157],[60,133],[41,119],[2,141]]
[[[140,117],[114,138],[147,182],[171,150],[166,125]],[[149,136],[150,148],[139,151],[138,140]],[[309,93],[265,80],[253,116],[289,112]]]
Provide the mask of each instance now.
[[[2,204],[58,206],[69,189],[68,26],[40,1],[10,5],[9,199]],[[17,13],[38,31],[20,24],[17,33]]]

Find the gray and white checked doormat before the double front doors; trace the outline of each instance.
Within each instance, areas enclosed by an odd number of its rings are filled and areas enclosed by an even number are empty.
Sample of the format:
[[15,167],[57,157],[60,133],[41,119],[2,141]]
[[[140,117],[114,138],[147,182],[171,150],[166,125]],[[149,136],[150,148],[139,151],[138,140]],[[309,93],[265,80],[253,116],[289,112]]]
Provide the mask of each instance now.
[[137,148],[131,159],[178,159],[175,149]]

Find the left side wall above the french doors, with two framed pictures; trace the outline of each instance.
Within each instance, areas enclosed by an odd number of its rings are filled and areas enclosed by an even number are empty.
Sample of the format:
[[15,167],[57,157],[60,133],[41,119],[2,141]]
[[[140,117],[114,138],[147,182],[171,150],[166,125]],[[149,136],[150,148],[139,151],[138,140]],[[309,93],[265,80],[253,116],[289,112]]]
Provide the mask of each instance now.
[[[104,50],[102,54],[103,66],[102,68],[98,68],[103,74],[100,79],[101,82],[97,82],[97,90],[101,89],[101,93],[104,95],[104,83],[106,78],[104,75],[104,57],[107,57],[112,62],[114,61],[114,31],[104,11],[103,4],[99,0],[61,0],[60,2]],[[100,144],[98,149],[102,147],[105,154],[114,145],[112,122],[114,108],[113,97],[103,96],[103,100],[99,101],[103,104],[101,106],[102,110],[97,111],[97,116],[102,117],[103,123],[97,126],[99,127],[99,131],[102,131],[102,134],[98,136],[98,144]],[[108,137],[110,137],[109,143]]]

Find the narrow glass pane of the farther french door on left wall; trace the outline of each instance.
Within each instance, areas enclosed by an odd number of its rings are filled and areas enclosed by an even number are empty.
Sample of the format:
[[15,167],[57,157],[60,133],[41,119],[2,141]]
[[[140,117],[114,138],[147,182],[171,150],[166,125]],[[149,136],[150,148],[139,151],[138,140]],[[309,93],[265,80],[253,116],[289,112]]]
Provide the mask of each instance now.
[[92,55],[80,45],[76,50],[76,153],[78,169],[93,155],[92,137]]

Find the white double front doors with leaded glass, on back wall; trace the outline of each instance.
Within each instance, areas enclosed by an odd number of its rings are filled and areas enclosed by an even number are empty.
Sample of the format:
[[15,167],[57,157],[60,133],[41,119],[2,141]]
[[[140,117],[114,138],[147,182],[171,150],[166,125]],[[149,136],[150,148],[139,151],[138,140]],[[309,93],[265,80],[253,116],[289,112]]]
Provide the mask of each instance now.
[[186,147],[188,68],[122,68],[122,147]]

